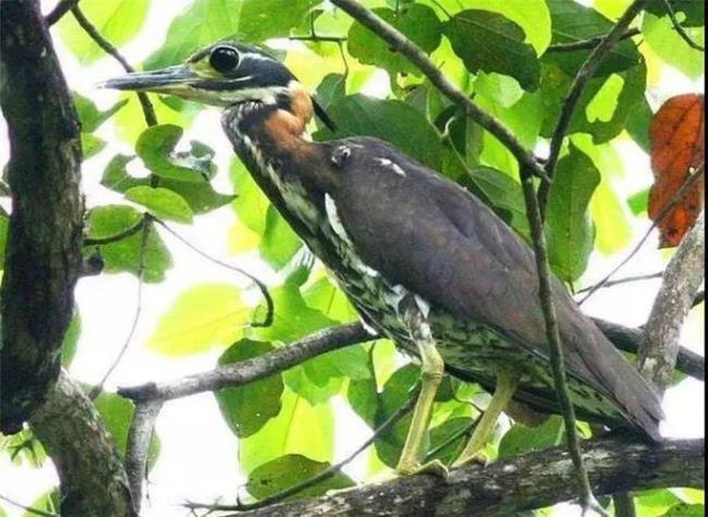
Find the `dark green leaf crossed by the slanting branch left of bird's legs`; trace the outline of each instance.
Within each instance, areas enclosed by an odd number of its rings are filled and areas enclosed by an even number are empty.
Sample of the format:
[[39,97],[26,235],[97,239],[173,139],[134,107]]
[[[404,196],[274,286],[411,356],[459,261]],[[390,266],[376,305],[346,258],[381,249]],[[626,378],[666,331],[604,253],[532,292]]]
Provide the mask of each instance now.
[[[219,365],[230,365],[258,357],[274,347],[269,343],[241,340],[219,357]],[[268,420],[278,416],[283,393],[281,374],[273,374],[243,386],[224,387],[215,392],[219,409],[229,428],[239,438],[258,432]]]

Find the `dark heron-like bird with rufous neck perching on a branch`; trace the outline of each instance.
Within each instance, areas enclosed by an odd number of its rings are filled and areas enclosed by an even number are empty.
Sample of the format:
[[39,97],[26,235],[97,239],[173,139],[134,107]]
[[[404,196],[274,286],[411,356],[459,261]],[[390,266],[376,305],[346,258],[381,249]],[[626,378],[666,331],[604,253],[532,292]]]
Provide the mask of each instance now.
[[[251,46],[221,41],[183,65],[105,86],[222,107],[236,153],[366,325],[420,358],[399,471],[443,470],[420,464],[443,365],[493,391],[456,464],[478,455],[510,398],[559,410],[533,253],[469,192],[379,139],[312,141],[308,122],[317,114],[331,124],[327,114]],[[552,291],[578,416],[658,439],[657,395],[557,279]]]

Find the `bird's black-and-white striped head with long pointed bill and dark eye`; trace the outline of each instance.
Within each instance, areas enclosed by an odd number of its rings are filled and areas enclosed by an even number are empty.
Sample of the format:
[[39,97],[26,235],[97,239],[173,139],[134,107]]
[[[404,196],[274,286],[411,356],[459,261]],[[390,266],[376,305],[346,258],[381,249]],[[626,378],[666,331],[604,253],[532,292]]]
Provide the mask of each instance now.
[[[101,85],[133,91],[174,95],[204,104],[231,107],[242,102],[272,104],[302,91],[295,76],[278,59],[257,47],[220,41],[186,62],[162,70],[135,72]],[[332,122],[313,99],[315,113],[328,126]]]

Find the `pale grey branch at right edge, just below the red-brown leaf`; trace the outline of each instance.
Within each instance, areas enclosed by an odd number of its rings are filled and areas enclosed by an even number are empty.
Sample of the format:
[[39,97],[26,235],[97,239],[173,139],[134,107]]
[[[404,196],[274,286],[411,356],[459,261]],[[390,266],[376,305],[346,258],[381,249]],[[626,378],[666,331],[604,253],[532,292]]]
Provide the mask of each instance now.
[[663,274],[651,315],[644,327],[638,362],[642,373],[663,392],[671,381],[679,335],[704,280],[705,212],[683,239]]

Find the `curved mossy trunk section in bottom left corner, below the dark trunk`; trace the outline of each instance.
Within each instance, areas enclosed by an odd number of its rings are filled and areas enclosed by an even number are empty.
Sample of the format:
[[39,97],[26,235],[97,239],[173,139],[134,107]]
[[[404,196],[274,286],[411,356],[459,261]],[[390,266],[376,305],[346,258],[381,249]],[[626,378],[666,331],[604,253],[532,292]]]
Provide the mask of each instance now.
[[61,374],[47,404],[29,421],[61,480],[65,517],[133,516],[123,461],[95,406]]

